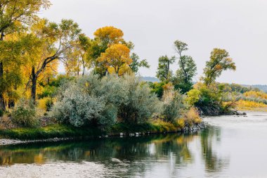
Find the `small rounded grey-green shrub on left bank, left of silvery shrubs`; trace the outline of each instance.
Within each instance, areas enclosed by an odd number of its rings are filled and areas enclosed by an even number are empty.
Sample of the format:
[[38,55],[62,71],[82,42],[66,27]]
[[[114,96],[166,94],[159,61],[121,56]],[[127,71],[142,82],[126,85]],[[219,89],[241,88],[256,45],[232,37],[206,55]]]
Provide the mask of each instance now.
[[32,101],[22,99],[11,113],[12,121],[25,127],[37,127],[37,110]]

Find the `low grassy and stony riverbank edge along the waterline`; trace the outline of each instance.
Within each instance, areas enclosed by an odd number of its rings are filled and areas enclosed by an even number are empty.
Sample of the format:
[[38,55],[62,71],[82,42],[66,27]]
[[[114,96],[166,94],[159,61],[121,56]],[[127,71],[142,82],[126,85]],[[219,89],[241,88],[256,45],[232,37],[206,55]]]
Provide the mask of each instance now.
[[[207,128],[207,122],[193,123],[178,129],[171,126],[160,125],[159,127],[148,128],[148,123],[140,125],[136,129],[130,129],[124,125],[109,132],[100,132],[98,129],[74,129],[65,125],[51,125],[39,129],[17,128],[0,129],[0,146],[15,144],[30,144],[37,142],[54,142],[66,140],[101,139],[116,136],[145,136],[150,134],[179,133],[190,134]],[[53,129],[53,130],[51,130]],[[116,131],[117,130],[117,131]]]

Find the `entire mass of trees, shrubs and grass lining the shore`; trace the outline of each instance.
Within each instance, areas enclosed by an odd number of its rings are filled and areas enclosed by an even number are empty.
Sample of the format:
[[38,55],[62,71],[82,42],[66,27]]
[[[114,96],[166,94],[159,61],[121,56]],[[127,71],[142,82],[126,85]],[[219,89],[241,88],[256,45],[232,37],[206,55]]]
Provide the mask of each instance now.
[[[150,65],[117,27],[100,27],[89,37],[74,20],[40,18],[39,11],[51,6],[48,0],[0,1],[0,6],[1,135],[46,139],[139,129],[177,132],[200,123],[200,114],[266,106],[260,91],[216,82],[222,72],[236,69],[226,49],[211,51],[194,84],[197,65],[187,55],[188,44],[176,40],[176,56],[158,58],[160,82],[142,82],[138,71]],[[58,75],[60,63],[65,75]],[[43,125],[44,117],[52,125]]]

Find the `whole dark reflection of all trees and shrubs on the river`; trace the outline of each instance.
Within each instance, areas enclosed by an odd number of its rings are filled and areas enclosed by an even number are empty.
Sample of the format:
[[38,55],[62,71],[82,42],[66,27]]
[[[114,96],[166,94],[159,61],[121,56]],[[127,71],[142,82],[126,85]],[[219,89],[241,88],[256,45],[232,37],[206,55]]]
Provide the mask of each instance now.
[[[201,165],[197,166],[198,171],[215,173],[228,165],[227,158],[221,158],[212,149],[214,141],[220,141],[218,138],[219,129],[208,129],[188,135],[164,134],[1,146],[0,164],[43,165],[86,161],[104,165],[118,177],[149,177],[148,174],[151,176],[159,171],[163,171],[166,177],[176,177],[181,175],[183,167],[199,164],[197,156],[200,156],[205,167],[203,170]],[[201,155],[197,155],[197,151]]]

